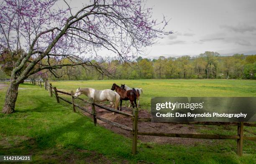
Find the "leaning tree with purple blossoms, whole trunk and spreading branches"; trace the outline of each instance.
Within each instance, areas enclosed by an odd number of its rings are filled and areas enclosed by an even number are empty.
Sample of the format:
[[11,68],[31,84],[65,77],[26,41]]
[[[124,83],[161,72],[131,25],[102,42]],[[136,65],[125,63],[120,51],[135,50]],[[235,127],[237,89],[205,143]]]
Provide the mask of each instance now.
[[[10,85],[2,112],[14,112],[19,83],[39,71],[64,66],[90,65],[87,54],[100,57],[99,49],[110,50],[120,60],[154,44],[165,32],[165,19],[156,23],[151,8],[141,0],[91,0],[76,13],[57,0],[4,0],[0,5],[0,48],[13,60]],[[67,62],[67,60],[69,62]]]

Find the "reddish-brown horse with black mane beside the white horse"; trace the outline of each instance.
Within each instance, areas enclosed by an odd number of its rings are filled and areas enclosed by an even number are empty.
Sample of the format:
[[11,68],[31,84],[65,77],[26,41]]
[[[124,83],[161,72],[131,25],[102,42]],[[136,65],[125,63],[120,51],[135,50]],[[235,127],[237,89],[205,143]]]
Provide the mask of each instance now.
[[[111,88],[112,91],[116,91],[119,95],[120,95],[120,111],[122,110],[122,101],[125,100],[130,100],[133,108],[136,106],[137,108],[137,103],[136,103],[136,99],[137,97],[140,96],[140,93],[138,91],[135,90],[129,90],[129,91],[125,91],[124,89],[120,88],[120,86],[116,85],[115,83],[113,83],[113,86]],[[134,103],[135,106],[134,106]]]

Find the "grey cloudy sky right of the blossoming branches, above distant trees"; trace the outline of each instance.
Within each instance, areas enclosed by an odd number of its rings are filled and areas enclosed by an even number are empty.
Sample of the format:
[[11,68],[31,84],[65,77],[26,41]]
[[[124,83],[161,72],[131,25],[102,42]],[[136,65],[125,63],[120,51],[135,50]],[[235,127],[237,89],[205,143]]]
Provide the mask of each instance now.
[[[72,0],[81,7],[84,0]],[[153,17],[170,19],[174,34],[147,48],[147,58],[195,56],[215,51],[223,56],[256,54],[256,0],[148,0]],[[112,56],[112,55],[111,55]]]

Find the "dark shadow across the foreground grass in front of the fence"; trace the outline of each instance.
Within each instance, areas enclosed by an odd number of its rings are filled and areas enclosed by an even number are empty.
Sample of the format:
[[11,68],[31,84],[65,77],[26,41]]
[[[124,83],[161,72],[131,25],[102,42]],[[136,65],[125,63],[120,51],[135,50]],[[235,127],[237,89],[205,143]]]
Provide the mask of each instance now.
[[[52,149],[54,151],[49,151]],[[152,147],[148,147],[147,144],[140,144],[138,154],[133,156],[131,155],[131,139],[114,134],[102,127],[95,127],[90,118],[87,117],[76,119],[68,124],[52,125],[49,130],[43,131],[38,136],[11,148],[3,148],[0,152],[2,154],[21,153],[33,156],[41,154],[42,156],[36,157],[33,161],[33,163],[41,163],[42,160],[49,160],[47,156],[59,156],[59,159],[65,160],[65,158],[68,158],[65,155],[66,151],[79,154],[81,150],[89,151],[89,154],[96,151],[109,159],[113,157],[114,159],[128,160],[132,163],[137,163],[139,160],[154,163],[172,163],[173,159],[177,163],[191,164],[203,164],[208,163],[208,161],[211,161],[209,163],[240,163],[238,159],[234,158],[235,154],[224,155],[220,152],[216,153],[214,149],[172,146],[169,144],[161,146],[153,144]],[[81,160],[83,159],[82,156],[84,154],[79,156]]]

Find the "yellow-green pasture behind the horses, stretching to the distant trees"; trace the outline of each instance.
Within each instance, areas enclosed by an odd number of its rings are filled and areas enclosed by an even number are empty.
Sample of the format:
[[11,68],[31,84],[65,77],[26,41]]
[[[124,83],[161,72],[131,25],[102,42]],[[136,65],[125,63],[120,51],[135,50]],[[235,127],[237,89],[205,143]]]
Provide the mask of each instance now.
[[[256,96],[256,81],[253,80],[90,80],[90,81],[55,81],[50,82],[57,89],[74,92],[80,88],[110,89],[113,83],[126,84],[143,89],[141,108],[150,109],[153,97],[176,96]],[[83,96],[86,98],[85,96]],[[126,103],[128,104],[128,103]]]

